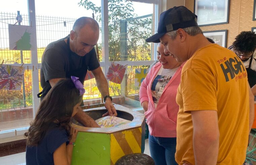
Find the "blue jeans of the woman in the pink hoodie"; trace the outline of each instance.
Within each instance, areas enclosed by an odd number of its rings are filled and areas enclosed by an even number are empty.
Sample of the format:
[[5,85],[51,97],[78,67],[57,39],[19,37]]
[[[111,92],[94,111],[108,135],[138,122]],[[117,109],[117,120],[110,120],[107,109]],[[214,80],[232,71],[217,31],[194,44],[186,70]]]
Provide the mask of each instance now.
[[148,136],[150,155],[155,165],[178,165],[175,161],[176,137]]

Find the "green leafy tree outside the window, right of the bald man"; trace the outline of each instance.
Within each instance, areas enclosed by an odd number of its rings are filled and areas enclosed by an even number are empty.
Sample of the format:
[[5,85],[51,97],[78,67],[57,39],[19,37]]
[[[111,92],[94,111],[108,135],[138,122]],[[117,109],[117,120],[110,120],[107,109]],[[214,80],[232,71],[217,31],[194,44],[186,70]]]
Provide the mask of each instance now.
[[[89,0],[81,0],[78,3],[86,10],[95,13],[95,19],[101,22],[101,7]],[[152,16],[137,18],[133,3],[129,0],[108,0],[108,29],[109,29],[109,60],[121,60],[122,57],[129,61],[150,60],[150,44],[145,39],[151,35]],[[132,18],[131,20],[129,18]],[[126,22],[125,25],[120,21]],[[126,34],[121,34],[121,31]],[[121,54],[121,35],[125,35],[125,55]],[[101,51],[101,49],[100,49]],[[122,58],[123,59],[123,58]]]

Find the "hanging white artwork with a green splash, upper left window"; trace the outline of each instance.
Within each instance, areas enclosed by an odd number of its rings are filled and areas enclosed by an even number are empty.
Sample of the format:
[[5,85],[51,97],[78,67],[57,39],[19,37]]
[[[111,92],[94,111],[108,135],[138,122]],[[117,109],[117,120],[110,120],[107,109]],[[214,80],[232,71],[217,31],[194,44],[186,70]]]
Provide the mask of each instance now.
[[35,26],[8,25],[10,50],[36,50]]

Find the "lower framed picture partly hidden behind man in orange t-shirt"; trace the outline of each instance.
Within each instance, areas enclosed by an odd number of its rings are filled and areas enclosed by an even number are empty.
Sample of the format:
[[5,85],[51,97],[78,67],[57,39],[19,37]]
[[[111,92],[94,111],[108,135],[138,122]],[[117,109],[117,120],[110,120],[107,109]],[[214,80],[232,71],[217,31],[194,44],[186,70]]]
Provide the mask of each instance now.
[[207,31],[203,32],[205,37],[212,39],[215,44],[226,48],[227,44],[227,30]]

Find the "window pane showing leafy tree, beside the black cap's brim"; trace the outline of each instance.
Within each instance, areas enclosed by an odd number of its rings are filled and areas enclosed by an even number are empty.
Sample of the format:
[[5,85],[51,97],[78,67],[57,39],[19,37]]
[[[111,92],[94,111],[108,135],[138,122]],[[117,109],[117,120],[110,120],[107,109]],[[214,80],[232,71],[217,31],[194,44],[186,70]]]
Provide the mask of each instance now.
[[151,59],[150,37],[154,27],[154,4],[118,0],[108,4],[109,60]]

